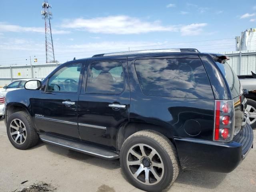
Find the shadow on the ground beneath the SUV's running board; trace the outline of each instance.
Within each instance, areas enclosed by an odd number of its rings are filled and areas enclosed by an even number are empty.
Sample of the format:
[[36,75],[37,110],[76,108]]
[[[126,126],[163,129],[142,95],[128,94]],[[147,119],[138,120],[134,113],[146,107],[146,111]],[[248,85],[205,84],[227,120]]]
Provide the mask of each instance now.
[[99,166],[109,170],[120,168],[119,159],[104,160],[91,155],[76,152],[74,150],[69,150],[59,146],[54,146],[52,144],[48,144],[48,143],[43,143],[43,144],[46,145],[47,150],[49,150],[50,152],[65,156],[66,158],[72,158],[84,163],[92,164],[92,165]]

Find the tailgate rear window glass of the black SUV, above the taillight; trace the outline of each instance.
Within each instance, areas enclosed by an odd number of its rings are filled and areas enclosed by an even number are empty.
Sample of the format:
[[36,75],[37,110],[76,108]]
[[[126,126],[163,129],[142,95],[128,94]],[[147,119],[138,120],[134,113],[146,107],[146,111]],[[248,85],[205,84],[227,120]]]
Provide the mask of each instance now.
[[224,64],[216,62],[216,64],[218,65],[220,71],[228,82],[232,97],[238,97],[240,95],[240,81],[238,79],[238,76],[227,62],[225,62]]

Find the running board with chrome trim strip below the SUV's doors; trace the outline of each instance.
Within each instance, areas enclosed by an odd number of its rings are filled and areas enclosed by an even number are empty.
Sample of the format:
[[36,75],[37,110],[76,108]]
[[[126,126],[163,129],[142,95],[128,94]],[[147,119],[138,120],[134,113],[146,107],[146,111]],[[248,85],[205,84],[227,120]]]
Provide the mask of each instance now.
[[78,142],[75,140],[70,140],[58,136],[52,136],[52,135],[40,135],[40,139],[46,143],[62,146],[64,148],[68,148],[71,150],[75,150],[78,152],[82,152],[85,154],[89,154],[92,156],[104,158],[104,159],[118,159],[119,154],[118,152],[105,149],[96,145],[87,144],[84,142]]

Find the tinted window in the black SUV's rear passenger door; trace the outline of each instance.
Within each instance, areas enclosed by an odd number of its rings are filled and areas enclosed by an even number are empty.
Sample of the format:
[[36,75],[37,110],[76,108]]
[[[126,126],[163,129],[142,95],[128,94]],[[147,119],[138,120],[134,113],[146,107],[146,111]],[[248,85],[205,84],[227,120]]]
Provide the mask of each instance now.
[[124,90],[124,72],[119,62],[94,62],[88,71],[86,93],[119,94]]

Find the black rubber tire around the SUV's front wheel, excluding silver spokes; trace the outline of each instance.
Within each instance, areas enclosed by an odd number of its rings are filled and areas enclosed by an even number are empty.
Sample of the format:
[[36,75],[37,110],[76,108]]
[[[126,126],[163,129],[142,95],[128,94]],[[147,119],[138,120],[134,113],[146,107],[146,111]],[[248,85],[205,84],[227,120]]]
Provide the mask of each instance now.
[[[12,123],[12,125],[14,124],[14,120],[20,120],[22,122],[22,127],[24,127],[26,129],[26,132],[24,131],[24,133],[23,133],[23,140],[24,140],[23,142],[24,143],[22,143],[21,141],[20,141],[20,144],[17,143],[18,141],[15,142],[15,138],[18,136],[18,134],[17,134],[17,136],[16,136],[16,134],[11,136],[11,131],[12,131],[12,133],[16,132],[15,129],[10,128],[11,123]],[[31,148],[31,147],[35,146],[39,141],[39,135],[34,130],[32,123],[31,123],[31,118],[26,112],[13,113],[8,118],[6,130],[7,130],[7,135],[8,135],[8,138],[9,138],[11,144],[17,149],[25,150],[25,149]],[[26,139],[24,139],[25,134],[26,134]],[[20,138],[22,138],[22,137],[20,136]]]

